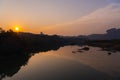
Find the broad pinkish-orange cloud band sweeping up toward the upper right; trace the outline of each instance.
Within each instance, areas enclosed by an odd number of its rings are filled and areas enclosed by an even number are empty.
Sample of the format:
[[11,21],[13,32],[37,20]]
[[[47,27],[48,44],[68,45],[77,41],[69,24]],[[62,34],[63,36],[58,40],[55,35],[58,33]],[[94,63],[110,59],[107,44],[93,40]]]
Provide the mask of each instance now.
[[43,28],[44,32],[62,35],[103,33],[106,29],[120,27],[120,4],[110,4],[78,20]]

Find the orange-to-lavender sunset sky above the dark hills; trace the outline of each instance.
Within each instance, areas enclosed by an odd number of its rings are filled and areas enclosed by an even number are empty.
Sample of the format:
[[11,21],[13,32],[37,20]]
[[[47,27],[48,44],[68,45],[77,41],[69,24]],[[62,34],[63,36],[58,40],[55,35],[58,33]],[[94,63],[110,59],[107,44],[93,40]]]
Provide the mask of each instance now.
[[0,27],[59,35],[120,27],[120,0],[0,0]]

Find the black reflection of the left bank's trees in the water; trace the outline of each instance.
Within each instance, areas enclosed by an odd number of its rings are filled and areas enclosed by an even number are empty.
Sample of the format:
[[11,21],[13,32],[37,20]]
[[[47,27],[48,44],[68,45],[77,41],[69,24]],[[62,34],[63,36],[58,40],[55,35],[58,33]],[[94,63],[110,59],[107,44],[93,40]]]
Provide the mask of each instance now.
[[25,66],[28,63],[28,60],[32,55],[38,52],[57,50],[59,48],[60,46],[29,47],[21,52],[16,51],[17,55],[14,54],[8,57],[0,57],[0,80],[6,76],[12,77],[16,74],[22,66]]

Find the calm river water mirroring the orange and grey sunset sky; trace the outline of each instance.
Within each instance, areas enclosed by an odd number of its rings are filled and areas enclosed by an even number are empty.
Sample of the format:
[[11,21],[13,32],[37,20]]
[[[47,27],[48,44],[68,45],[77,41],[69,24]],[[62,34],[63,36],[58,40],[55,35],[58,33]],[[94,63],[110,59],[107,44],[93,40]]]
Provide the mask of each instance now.
[[4,75],[2,80],[120,80],[120,52],[110,55],[100,48],[78,51],[80,48],[65,46],[36,53],[24,59],[26,65],[0,68],[5,69],[0,75]]

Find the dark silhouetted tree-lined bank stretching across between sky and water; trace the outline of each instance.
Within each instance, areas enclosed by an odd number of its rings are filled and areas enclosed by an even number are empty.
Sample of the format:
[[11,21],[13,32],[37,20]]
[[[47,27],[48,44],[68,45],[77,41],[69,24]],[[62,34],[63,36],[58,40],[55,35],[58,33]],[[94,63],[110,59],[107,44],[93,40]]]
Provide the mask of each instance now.
[[57,50],[66,45],[89,45],[103,50],[120,51],[120,40],[89,40],[86,37],[63,37],[58,35],[32,34],[0,29],[0,57],[36,53],[44,49]]

